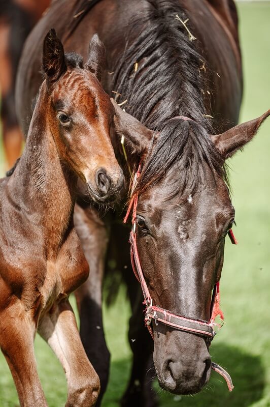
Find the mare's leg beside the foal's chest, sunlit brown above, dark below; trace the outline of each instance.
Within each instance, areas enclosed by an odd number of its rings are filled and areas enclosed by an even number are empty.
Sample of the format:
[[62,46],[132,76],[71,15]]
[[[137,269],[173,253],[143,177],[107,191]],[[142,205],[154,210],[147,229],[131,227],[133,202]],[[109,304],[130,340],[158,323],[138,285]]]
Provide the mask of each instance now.
[[109,379],[110,353],[102,320],[102,282],[108,237],[104,223],[94,210],[75,207],[74,224],[89,263],[88,280],[76,291],[80,335],[85,352],[100,379],[100,405]]

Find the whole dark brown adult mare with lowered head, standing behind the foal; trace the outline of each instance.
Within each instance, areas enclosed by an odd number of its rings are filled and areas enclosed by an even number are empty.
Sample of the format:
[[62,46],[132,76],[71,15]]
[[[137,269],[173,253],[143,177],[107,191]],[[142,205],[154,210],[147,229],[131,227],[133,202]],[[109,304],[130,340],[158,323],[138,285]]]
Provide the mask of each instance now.
[[[140,160],[143,162],[137,186],[137,243],[150,294],[156,305],[208,321],[211,290],[221,275],[225,236],[234,221],[225,160],[253,137],[268,114],[232,127],[238,121],[242,97],[234,3],[94,3],[94,7],[83,0],[53,3],[28,38],[17,85],[21,122],[27,130],[31,100],[41,83],[41,38],[46,30],[55,26],[67,49],[83,55],[88,39],[98,32],[108,52],[102,83],[126,112],[144,124],[117,109],[115,124],[119,135],[125,136],[131,170],[137,169]],[[112,141],[129,179],[114,134]],[[130,267],[129,227],[121,224],[123,205],[100,219],[85,201],[81,203],[75,211],[75,226],[91,274],[77,290],[80,332],[100,377],[100,394],[106,389],[109,367],[102,328],[102,280],[104,270],[120,270],[132,308],[129,341],[133,352],[131,378],[122,405],[156,405],[151,383],[146,380],[153,342],[144,327],[141,287]],[[107,261],[111,259],[114,262]],[[116,264],[115,270],[110,269],[112,264]],[[102,329],[97,330],[97,326]],[[203,388],[211,371],[205,339],[165,329],[162,324],[153,329],[153,356],[160,385],[178,394]]]

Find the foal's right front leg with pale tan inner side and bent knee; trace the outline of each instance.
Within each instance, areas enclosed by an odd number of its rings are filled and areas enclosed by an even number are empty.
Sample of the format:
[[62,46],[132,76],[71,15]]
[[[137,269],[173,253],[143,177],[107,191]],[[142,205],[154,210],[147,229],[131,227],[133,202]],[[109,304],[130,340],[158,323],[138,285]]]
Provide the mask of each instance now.
[[68,300],[61,300],[44,314],[39,334],[48,342],[65,371],[67,401],[65,407],[95,405],[100,389],[99,379],[89,362]]

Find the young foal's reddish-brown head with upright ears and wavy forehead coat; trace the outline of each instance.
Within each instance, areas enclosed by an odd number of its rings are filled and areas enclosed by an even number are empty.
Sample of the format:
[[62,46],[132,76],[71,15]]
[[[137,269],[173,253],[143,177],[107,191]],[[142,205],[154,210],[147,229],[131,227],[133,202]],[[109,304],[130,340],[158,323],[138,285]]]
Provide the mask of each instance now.
[[45,37],[43,86],[50,129],[60,158],[87,184],[96,202],[114,200],[124,181],[110,139],[114,108],[99,82],[105,60],[97,35],[89,44],[85,65],[80,55],[64,54],[53,29]]

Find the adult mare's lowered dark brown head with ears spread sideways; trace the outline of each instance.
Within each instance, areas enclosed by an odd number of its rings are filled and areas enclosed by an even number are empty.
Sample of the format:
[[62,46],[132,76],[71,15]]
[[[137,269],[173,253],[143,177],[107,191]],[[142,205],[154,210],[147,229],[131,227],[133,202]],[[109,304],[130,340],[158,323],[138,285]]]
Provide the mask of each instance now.
[[[129,153],[143,162],[137,192],[137,245],[153,304],[209,322],[224,242],[234,222],[224,162],[270,114],[210,136],[194,121],[168,120],[155,135],[115,106],[115,126]],[[170,135],[170,142],[167,137]],[[153,323],[160,385],[176,394],[198,392],[211,372],[204,337]]]

